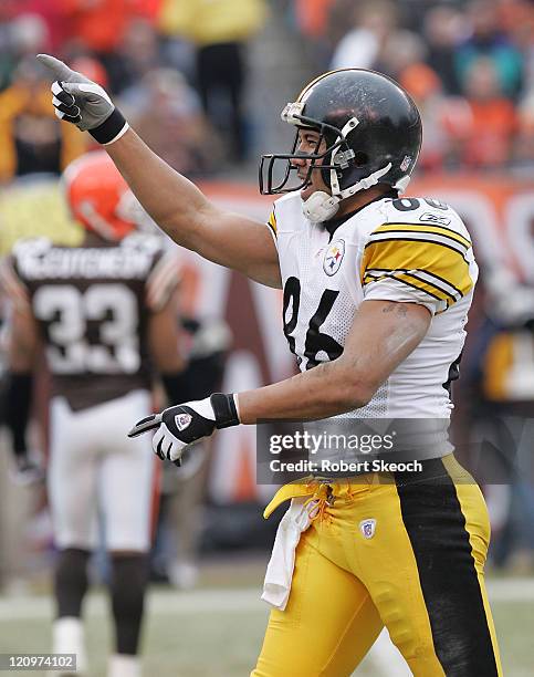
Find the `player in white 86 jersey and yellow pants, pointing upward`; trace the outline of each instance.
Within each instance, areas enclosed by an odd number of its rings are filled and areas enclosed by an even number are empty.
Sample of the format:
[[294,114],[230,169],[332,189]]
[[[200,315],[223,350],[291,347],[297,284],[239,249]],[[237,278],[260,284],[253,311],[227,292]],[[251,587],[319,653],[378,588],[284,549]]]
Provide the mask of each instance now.
[[[284,290],[284,333],[301,374],[170,407],[132,435],[155,429],[156,454],[172,460],[216,429],[261,419],[447,421],[477,264],[450,207],[399,197],[421,123],[394,81],[326,73],[284,108],[295,145],[263,157],[261,190],[287,195],[265,227],[212,205],[146,147],[102,88],[40,59],[55,77],[57,115],[105,145],[176,242]],[[275,608],[252,675],[349,675],[384,625],[417,677],[502,674],[484,587],[488,512],[452,446],[436,439],[420,472],[313,477],[276,493],[266,514],[292,503],[268,567],[263,597]]]

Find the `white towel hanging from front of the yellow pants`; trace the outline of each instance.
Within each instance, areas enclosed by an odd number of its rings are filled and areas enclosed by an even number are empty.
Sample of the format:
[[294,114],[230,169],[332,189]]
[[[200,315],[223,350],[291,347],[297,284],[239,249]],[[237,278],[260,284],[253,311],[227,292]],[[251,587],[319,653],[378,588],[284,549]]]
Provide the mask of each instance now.
[[265,572],[261,598],[280,611],[284,611],[290,598],[291,581],[295,566],[295,550],[301,534],[311,524],[310,513],[317,501],[305,506],[310,497],[294,498],[287,512],[280,520],[273,551]]

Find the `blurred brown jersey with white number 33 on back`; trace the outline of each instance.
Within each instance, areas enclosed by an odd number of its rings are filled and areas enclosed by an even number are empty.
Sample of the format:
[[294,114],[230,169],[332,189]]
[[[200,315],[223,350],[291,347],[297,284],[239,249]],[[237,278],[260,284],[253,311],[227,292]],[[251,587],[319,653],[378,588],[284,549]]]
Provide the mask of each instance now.
[[42,334],[53,395],[78,410],[150,387],[149,314],[178,280],[160,238],[136,233],[97,247],[25,240],[11,265]]

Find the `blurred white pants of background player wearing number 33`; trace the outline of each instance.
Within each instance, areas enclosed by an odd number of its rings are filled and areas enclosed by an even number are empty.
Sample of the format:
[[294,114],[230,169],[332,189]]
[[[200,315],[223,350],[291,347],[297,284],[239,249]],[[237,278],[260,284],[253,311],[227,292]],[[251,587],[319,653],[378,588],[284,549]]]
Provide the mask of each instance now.
[[126,434],[150,412],[147,390],[80,412],[52,399],[48,485],[57,548],[93,550],[101,515],[107,550],[148,551],[155,457],[149,438]]

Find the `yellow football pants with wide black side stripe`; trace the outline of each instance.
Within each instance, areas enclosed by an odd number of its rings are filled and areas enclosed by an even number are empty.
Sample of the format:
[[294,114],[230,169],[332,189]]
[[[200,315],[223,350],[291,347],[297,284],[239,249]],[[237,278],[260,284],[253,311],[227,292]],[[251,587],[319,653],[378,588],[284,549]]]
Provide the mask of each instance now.
[[474,480],[450,455],[426,461],[419,478],[357,482],[289,485],[268,507],[313,496],[318,515],[252,677],[350,675],[384,626],[416,677],[501,676],[483,574],[490,524]]

